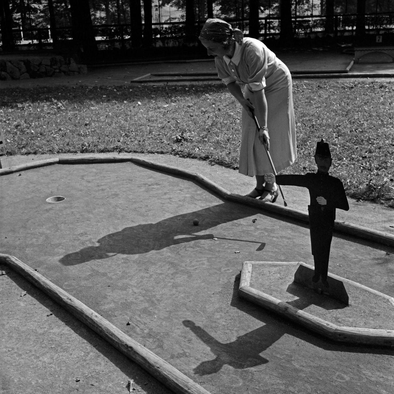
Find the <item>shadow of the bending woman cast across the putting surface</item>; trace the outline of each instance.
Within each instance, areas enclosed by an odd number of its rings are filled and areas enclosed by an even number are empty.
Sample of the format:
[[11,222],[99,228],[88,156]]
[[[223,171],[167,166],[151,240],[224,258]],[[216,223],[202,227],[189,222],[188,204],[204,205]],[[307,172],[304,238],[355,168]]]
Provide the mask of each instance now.
[[[59,261],[65,266],[81,264],[91,260],[100,260],[114,254],[137,255],[154,250],[161,250],[171,245],[212,239],[213,234],[194,234],[217,225],[260,213],[236,203],[225,202],[209,208],[168,217],[157,223],[139,224],[125,227],[123,230],[108,234],[99,240],[97,246],[88,246],[77,252],[63,256]],[[198,219],[198,226],[193,220]],[[257,242],[251,240],[249,242]]]

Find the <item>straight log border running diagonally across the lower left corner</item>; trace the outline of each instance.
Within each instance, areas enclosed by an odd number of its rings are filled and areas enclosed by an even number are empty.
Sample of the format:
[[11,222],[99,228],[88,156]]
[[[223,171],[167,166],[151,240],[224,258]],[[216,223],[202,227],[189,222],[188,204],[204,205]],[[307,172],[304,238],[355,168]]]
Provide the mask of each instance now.
[[139,344],[123,331],[104,319],[93,309],[72,297],[46,277],[34,271],[24,262],[14,256],[0,253],[0,262],[7,264],[29,282],[43,291],[51,299],[67,309],[82,323],[99,334],[130,360],[139,364],[149,374],[177,394],[210,394],[209,391],[195,383],[177,368],[164,361],[145,346]]

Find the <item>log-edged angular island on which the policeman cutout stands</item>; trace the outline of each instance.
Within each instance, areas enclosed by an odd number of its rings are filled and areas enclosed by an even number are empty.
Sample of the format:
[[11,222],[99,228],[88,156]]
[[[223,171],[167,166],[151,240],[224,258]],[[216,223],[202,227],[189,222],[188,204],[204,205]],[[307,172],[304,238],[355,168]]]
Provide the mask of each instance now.
[[[294,273],[313,273],[303,262],[243,263],[238,294],[329,339],[394,346],[394,298],[329,273],[329,283],[346,286],[349,305],[294,282]],[[297,275],[298,276],[298,275]],[[300,275],[301,279],[303,274]]]

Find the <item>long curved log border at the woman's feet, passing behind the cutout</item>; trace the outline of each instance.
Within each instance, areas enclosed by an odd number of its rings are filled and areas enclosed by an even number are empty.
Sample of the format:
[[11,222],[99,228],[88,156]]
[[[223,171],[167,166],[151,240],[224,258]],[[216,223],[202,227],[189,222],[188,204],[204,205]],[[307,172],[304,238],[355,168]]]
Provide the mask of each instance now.
[[[100,163],[120,163],[120,162],[132,162],[134,164],[142,165],[143,167],[152,168],[158,171],[163,171],[165,173],[178,175],[185,178],[190,178],[197,183],[203,185],[209,190],[214,191],[223,199],[233,201],[235,203],[240,203],[244,205],[249,205],[254,208],[262,209],[274,214],[289,217],[290,219],[309,223],[309,216],[305,212],[299,211],[297,209],[284,207],[279,204],[271,204],[266,201],[251,199],[239,194],[230,193],[221,186],[212,182],[203,175],[188,171],[185,169],[180,169],[167,164],[159,164],[151,162],[150,160],[137,158],[134,156],[80,156],[80,157],[65,157],[65,158],[53,158],[48,160],[41,160],[25,165],[16,165],[13,167],[8,167],[0,169],[0,176],[15,173],[18,171],[25,171],[32,168],[42,167],[51,164],[100,164]],[[334,230],[336,232],[353,236],[356,238],[361,238],[369,242],[380,243],[382,245],[387,245],[394,247],[394,235],[388,234],[387,232],[382,232],[379,230],[373,230],[368,227],[359,226],[353,223],[348,223],[345,221],[335,220]]]

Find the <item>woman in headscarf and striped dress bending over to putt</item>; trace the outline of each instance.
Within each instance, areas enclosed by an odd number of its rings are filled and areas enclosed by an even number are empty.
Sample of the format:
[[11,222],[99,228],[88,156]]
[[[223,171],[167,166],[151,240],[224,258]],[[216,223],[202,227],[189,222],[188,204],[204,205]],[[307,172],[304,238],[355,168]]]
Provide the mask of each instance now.
[[[297,157],[292,78],[290,71],[261,41],[243,38],[221,19],[208,19],[199,37],[208,55],[215,57],[219,78],[242,105],[242,138],[239,172],[256,177],[248,197],[275,202],[278,188],[264,181],[272,168],[263,143],[269,149],[276,171],[294,163]],[[242,92],[240,84],[245,84]],[[251,115],[254,110],[261,127]]]

